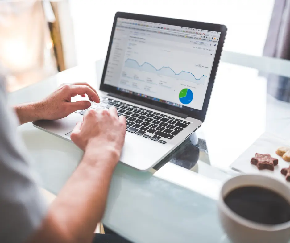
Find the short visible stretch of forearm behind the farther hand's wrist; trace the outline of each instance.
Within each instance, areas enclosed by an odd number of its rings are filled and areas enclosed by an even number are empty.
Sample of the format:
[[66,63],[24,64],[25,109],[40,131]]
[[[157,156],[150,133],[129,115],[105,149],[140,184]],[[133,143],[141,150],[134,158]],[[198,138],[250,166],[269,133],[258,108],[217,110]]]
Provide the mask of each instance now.
[[34,122],[42,119],[39,112],[39,103],[32,102],[14,106],[15,113],[18,116],[20,124]]

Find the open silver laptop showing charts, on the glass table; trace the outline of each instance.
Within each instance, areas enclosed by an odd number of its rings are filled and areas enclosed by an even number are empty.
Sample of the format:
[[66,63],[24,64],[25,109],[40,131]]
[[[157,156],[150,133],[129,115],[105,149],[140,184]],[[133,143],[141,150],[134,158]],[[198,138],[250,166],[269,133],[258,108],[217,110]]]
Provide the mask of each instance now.
[[[120,161],[147,171],[205,120],[227,28],[117,12],[99,87],[101,102],[127,121]],[[34,126],[70,140],[86,110]]]

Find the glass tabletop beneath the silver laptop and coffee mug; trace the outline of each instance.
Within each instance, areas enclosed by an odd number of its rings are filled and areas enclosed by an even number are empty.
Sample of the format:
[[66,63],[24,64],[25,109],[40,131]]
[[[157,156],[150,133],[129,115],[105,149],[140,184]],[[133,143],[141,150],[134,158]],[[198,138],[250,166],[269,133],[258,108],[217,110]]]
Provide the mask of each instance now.
[[[98,87],[102,67],[100,60],[60,72],[10,93],[10,104],[39,100],[62,83]],[[222,183],[237,173],[230,164],[265,132],[289,141],[289,78],[267,78],[257,69],[222,62],[207,117],[196,133],[149,172],[118,164],[103,223],[136,243],[229,242],[216,200]],[[31,123],[18,129],[42,186],[57,194],[82,151]]]

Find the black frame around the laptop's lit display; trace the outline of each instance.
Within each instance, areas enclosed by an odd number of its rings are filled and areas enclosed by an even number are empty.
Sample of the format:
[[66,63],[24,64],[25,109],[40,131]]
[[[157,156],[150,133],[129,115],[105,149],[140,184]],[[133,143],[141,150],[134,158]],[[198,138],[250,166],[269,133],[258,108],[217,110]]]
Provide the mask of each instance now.
[[[209,75],[208,87],[207,87],[207,90],[205,93],[205,99],[204,99],[204,103],[202,106],[202,110],[197,110],[197,109],[194,109],[193,111],[185,110],[183,108],[168,105],[166,103],[161,103],[159,101],[150,100],[150,99],[147,99],[145,97],[141,97],[141,96],[137,96],[134,94],[122,92],[120,90],[117,90],[117,87],[104,83],[107,65],[108,65],[108,60],[109,60],[110,51],[111,51],[111,47],[112,47],[112,41],[113,41],[114,32],[115,32],[115,27],[116,27],[116,23],[117,23],[117,18],[141,20],[141,21],[147,21],[147,22],[153,22],[153,23],[169,24],[169,25],[175,25],[175,26],[180,26],[180,27],[188,27],[188,28],[195,28],[195,29],[201,29],[201,30],[210,30],[210,31],[221,32],[219,42],[217,44],[216,54],[215,54],[215,57],[213,60],[213,67],[212,67],[211,73]],[[146,103],[149,103],[149,104],[154,105],[156,107],[161,107],[163,109],[168,109],[171,111],[182,113],[184,115],[187,115],[189,117],[192,117],[192,118],[195,118],[195,119],[198,119],[198,120],[201,120],[202,122],[204,122],[206,111],[207,111],[207,108],[209,105],[210,95],[211,95],[212,89],[213,89],[213,83],[215,80],[218,64],[219,64],[219,61],[221,58],[222,49],[223,49],[223,45],[224,45],[225,38],[226,38],[226,31],[227,31],[226,26],[220,25],[220,24],[203,23],[203,22],[181,20],[181,19],[171,19],[171,18],[164,18],[164,17],[157,17],[157,16],[150,16],[150,15],[117,12],[115,14],[114,23],[113,23],[113,27],[112,27],[110,42],[109,42],[109,46],[108,46],[107,56],[106,56],[103,74],[102,74],[102,80],[101,80],[101,84],[100,84],[100,90],[107,92],[107,93],[115,93],[115,94],[121,95],[123,97],[134,99],[136,101],[146,102]],[[156,98],[158,98],[158,97],[156,97]]]

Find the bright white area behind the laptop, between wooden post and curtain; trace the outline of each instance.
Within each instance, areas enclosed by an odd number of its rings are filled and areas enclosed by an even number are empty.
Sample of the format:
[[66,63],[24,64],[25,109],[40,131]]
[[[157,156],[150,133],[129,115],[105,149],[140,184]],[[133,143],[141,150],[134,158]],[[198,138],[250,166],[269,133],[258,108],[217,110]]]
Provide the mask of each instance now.
[[106,56],[117,11],[225,24],[224,50],[261,56],[274,0],[70,0],[77,63]]

